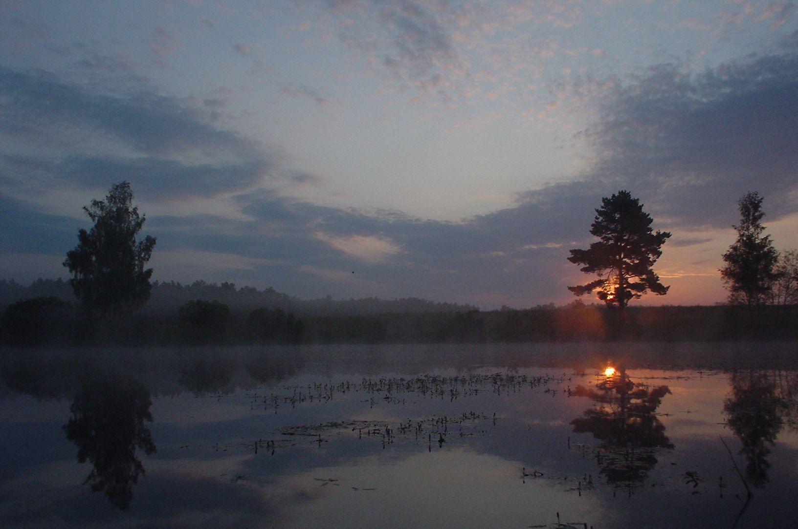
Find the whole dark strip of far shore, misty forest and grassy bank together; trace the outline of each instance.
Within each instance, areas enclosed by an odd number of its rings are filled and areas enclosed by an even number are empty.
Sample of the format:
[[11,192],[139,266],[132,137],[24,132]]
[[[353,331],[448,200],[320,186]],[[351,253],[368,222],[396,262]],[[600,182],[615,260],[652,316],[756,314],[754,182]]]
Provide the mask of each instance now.
[[429,300],[300,300],[272,288],[153,282],[132,318],[87,320],[68,281],[0,280],[0,342],[11,346],[270,343],[519,343],[798,339],[798,306],[631,307],[576,300],[480,311]]

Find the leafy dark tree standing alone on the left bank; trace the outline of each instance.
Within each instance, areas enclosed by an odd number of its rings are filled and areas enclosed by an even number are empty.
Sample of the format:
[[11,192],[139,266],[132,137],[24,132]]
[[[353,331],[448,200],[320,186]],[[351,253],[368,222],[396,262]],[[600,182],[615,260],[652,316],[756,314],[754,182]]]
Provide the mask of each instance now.
[[152,268],[144,269],[144,264],[156,239],[148,235],[136,241],[145,219],[132,207],[132,198],[130,184],[120,182],[111,186],[105,202],[93,200],[83,208],[94,226],[77,233],[78,245],[66,254],[64,266],[88,312],[124,315],[149,298]]

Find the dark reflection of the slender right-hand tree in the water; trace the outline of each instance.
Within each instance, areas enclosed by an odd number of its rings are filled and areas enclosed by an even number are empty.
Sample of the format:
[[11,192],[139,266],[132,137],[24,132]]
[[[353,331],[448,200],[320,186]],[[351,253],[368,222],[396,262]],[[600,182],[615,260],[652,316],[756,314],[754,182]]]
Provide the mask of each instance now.
[[784,424],[781,414],[788,408],[787,400],[776,391],[776,381],[762,372],[732,374],[732,395],[726,398],[723,409],[729,428],[740,439],[740,451],[745,457],[745,475],[753,486],[762,488],[768,483],[768,445]]

